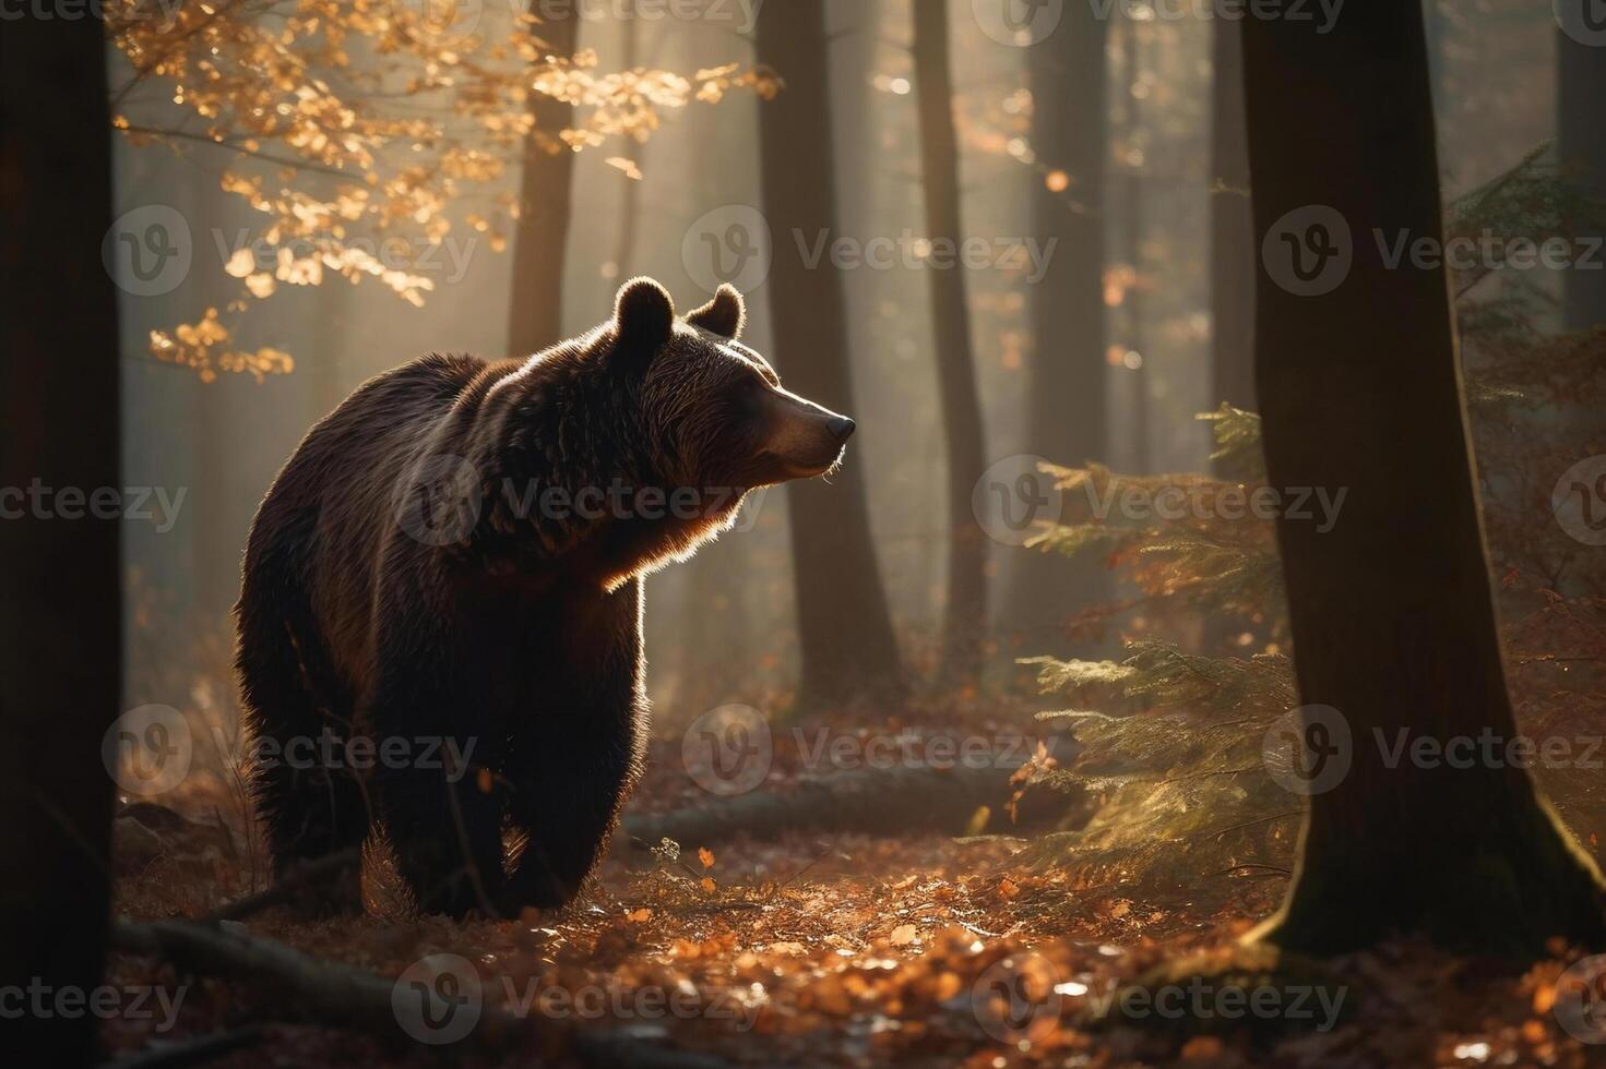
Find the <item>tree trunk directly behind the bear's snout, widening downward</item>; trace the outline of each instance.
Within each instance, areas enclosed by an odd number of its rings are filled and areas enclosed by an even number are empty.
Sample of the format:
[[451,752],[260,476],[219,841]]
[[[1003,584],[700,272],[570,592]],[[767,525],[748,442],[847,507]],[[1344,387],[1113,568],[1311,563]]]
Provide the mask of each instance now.
[[[760,106],[764,212],[774,239],[769,271],[777,364],[787,387],[861,419],[853,403],[843,278],[808,250],[837,238],[835,149],[825,82],[825,3],[789,0],[758,16],[758,59],[785,88]],[[862,453],[829,483],[787,488],[803,653],[800,705],[904,690],[898,644],[882,589],[864,491]]]

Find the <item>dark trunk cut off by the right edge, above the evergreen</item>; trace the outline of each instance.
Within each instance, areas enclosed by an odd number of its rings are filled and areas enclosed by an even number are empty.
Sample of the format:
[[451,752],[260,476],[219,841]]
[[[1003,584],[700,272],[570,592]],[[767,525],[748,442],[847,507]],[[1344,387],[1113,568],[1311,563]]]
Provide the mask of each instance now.
[[[1606,236],[1606,47],[1556,35],[1556,159],[1563,178],[1590,202],[1571,220],[1579,238]],[[1569,331],[1606,326],[1606,271],[1572,268],[1563,278],[1563,319]]]

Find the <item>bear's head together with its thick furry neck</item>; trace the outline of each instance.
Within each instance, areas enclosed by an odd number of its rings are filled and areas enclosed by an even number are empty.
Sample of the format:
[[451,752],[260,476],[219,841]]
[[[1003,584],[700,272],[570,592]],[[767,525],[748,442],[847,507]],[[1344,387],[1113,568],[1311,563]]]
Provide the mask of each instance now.
[[613,587],[728,530],[748,491],[830,472],[853,421],[784,388],[744,319],[731,286],[676,318],[638,278],[612,319],[499,376],[466,416],[491,502],[479,544]]

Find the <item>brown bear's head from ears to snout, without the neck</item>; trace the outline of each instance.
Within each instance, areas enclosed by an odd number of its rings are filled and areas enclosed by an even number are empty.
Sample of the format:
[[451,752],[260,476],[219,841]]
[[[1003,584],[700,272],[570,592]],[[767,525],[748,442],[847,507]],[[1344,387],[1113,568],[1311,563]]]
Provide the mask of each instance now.
[[638,379],[654,467],[668,485],[745,493],[824,475],[842,459],[853,421],[782,387],[769,361],[742,345],[745,319],[742,294],[728,284],[684,321],[649,278],[618,291],[609,361]]

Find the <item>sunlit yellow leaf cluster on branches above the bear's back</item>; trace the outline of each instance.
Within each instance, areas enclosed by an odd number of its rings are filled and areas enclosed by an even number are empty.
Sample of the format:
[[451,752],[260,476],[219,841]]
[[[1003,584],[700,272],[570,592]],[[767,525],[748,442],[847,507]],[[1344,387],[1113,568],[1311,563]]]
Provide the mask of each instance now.
[[[106,26],[125,61],[114,128],[201,162],[218,152],[222,189],[262,217],[225,263],[244,307],[328,273],[422,305],[435,282],[421,263],[443,260],[454,215],[506,247],[507,169],[532,140],[548,151],[646,141],[665,111],[779,83],[737,64],[691,79],[604,72],[593,50],[552,55],[528,14],[458,0],[108,0]],[[573,125],[535,128],[538,98],[572,104]],[[628,157],[609,162],[641,178]],[[273,348],[214,356],[226,331],[210,337],[222,327],[209,321],[215,311],[153,334],[151,352],[202,377],[289,369]]]

